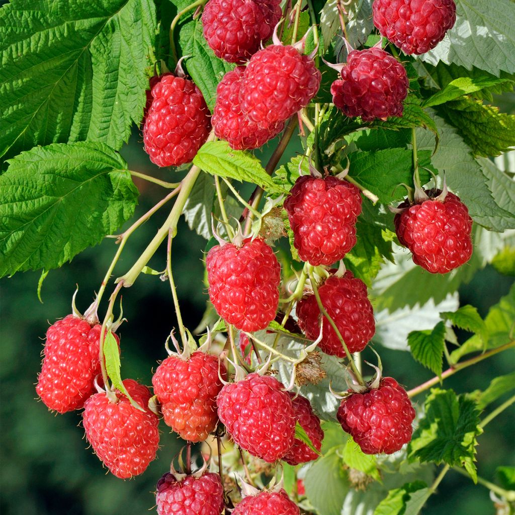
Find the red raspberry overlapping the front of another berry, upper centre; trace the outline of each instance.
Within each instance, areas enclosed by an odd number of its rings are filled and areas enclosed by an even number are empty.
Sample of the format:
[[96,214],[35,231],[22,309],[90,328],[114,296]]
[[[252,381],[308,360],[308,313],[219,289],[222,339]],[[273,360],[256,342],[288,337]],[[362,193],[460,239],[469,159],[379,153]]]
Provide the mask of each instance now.
[[243,75],[242,111],[262,128],[284,122],[307,106],[320,79],[313,59],[294,46],[267,46],[252,56]]

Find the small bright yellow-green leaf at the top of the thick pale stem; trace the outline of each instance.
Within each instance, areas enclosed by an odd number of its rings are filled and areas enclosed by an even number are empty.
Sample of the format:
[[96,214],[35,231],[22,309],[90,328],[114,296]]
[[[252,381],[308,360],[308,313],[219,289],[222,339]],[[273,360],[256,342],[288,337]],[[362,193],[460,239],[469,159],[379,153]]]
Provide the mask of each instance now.
[[211,175],[247,181],[271,193],[287,193],[274,183],[257,158],[243,150],[233,150],[225,141],[208,141],[198,151],[193,164]]

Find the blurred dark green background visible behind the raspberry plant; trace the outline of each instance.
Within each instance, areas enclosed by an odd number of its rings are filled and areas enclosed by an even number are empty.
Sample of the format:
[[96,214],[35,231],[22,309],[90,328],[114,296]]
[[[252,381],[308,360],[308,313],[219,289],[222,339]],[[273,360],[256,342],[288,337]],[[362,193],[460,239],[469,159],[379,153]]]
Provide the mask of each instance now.
[[[504,110],[512,109],[512,98],[505,97],[502,101],[507,102]],[[165,180],[182,177],[153,167],[142,146],[141,135],[135,132],[122,151],[130,169]],[[274,143],[271,142],[263,152],[263,159],[273,148]],[[290,156],[295,150],[300,149],[292,149]],[[136,216],[166,195],[162,188],[153,184],[139,181],[138,187],[142,195]],[[130,268],[167,212],[165,207],[129,239],[115,269],[115,277]],[[173,267],[184,322],[192,330],[199,323],[207,300],[201,263],[205,243],[181,220],[174,242]],[[37,298],[38,272],[18,273],[2,281],[2,515],[143,515],[152,509],[151,492],[181,445],[163,424],[158,459],[142,476],[123,481],[106,474],[106,469],[87,449],[84,431],[78,426],[80,413],[54,416],[36,400],[34,384],[48,324],[71,313],[76,284],[79,286],[79,310],[84,311],[89,306],[115,251],[114,240],[105,239],[101,245],[78,255],[72,263],[50,271],[42,287],[43,304]],[[149,265],[157,270],[164,269],[164,248]],[[487,267],[460,289],[461,302],[477,306],[480,314],[485,316],[489,306],[507,293],[512,281],[513,278],[501,276],[492,267]],[[164,342],[176,325],[169,285],[157,276],[142,275],[133,287],[122,293],[124,316],[128,319],[118,331],[122,346],[122,376],[149,385],[152,368],[155,369],[157,361],[166,356]],[[99,313],[102,311],[101,306]],[[447,380],[445,387],[452,387],[457,392],[486,388],[493,377],[513,370],[514,355],[511,351],[505,352],[468,368]],[[408,353],[381,349],[381,357],[385,368],[394,370],[399,382],[408,388],[432,376]],[[374,361],[373,357],[370,359]],[[417,399],[418,402],[422,400],[423,396]],[[495,423],[488,425],[486,433],[479,437],[478,472],[488,480],[494,480],[497,466],[515,462],[514,415],[512,406],[496,418]],[[474,486],[470,479],[451,471],[423,513],[490,515],[495,513],[495,509],[486,488]]]

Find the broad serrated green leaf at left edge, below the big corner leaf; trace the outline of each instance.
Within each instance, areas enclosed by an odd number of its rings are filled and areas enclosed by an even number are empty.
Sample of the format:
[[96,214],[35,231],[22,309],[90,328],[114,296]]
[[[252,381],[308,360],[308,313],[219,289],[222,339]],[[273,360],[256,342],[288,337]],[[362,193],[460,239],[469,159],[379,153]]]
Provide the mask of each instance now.
[[22,152],[0,191],[0,277],[70,261],[128,220],[138,197],[125,161],[87,142]]

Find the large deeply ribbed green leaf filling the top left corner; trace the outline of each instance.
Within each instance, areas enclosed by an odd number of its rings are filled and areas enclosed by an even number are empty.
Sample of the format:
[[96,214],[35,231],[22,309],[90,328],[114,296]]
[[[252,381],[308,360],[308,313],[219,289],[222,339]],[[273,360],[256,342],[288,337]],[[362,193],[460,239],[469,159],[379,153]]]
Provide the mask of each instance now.
[[100,141],[139,124],[153,61],[150,0],[13,0],[0,9],[0,156]]

